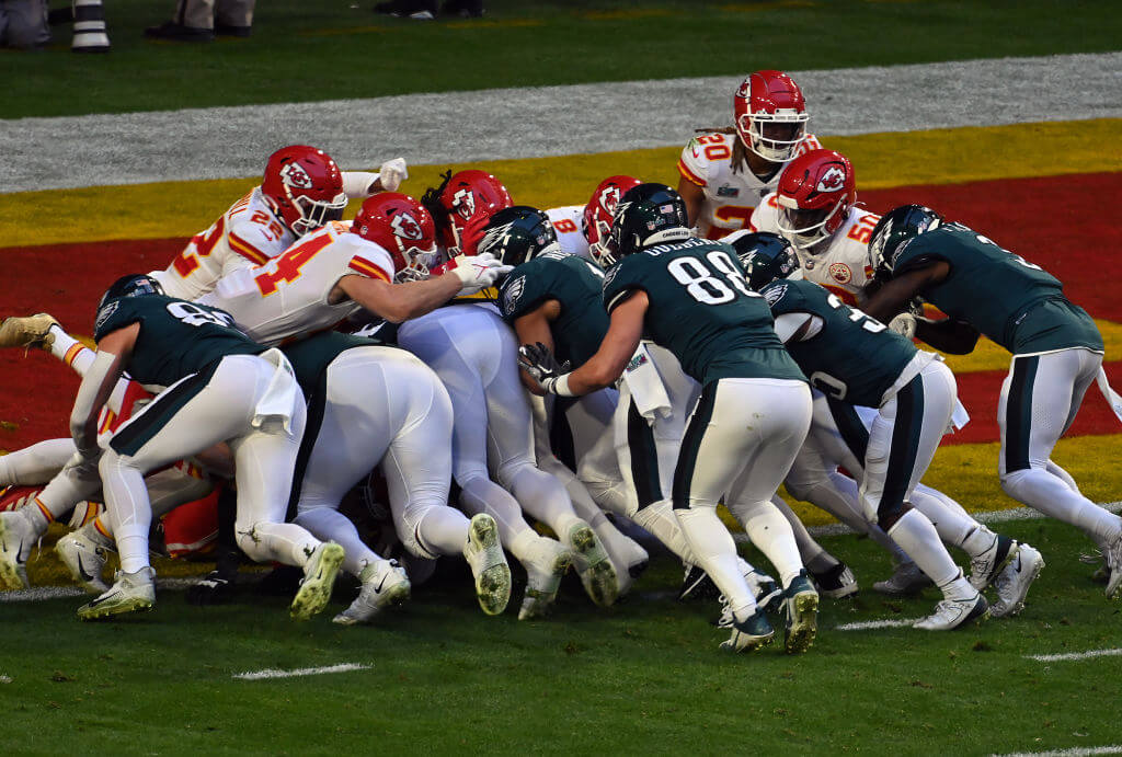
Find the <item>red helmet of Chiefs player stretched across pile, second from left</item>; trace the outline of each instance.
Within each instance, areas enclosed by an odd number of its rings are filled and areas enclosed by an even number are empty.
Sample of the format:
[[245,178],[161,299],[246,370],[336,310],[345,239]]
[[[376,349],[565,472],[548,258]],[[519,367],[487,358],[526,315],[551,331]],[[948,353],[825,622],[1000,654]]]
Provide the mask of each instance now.
[[440,265],[436,224],[424,205],[407,194],[380,192],[367,197],[351,232],[389,252],[395,281],[429,278],[429,271]]

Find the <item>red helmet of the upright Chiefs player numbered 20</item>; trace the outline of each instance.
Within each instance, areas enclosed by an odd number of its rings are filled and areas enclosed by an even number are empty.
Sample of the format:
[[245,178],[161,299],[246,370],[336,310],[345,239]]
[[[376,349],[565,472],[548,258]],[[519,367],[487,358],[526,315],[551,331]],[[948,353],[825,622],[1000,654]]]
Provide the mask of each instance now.
[[744,146],[772,163],[785,163],[807,138],[802,91],[782,71],[757,71],[733,98],[736,133]]

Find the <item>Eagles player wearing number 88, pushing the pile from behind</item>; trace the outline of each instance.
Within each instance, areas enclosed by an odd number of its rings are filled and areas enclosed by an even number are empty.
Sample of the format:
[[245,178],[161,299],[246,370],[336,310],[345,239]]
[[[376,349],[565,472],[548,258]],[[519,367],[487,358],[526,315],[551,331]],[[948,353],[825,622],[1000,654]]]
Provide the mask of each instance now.
[[737,564],[717,501],[743,492],[735,515],[779,571],[785,591],[788,652],[817,629],[818,593],[799,560],[791,526],[771,502],[810,425],[810,390],[772,330],[764,299],[748,289],[735,251],[690,238],[686,205],[662,184],[641,184],[616,206],[604,280],[610,325],[597,352],[565,372],[543,345],[523,347],[523,364],[552,394],[596,391],[624,371],[646,335],[702,386],[679,452],[673,506],[698,562],[728,599],[721,647],[739,652],[774,630]]

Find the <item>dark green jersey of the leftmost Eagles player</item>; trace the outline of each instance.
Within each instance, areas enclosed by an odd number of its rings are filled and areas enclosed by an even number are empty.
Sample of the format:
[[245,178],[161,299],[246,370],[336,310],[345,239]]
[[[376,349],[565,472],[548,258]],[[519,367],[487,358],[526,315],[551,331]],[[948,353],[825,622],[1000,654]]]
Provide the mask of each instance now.
[[111,299],[98,312],[93,338],[140,324],[125,370],[140,384],[171,386],[228,354],[259,354],[267,348],[246,336],[233,316],[208,305],[149,295]]

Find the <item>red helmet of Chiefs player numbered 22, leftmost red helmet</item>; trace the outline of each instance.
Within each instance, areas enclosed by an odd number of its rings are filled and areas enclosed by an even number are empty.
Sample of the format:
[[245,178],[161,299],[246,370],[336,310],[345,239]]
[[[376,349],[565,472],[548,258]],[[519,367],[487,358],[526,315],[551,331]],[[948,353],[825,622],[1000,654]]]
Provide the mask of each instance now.
[[331,156],[307,145],[289,145],[269,156],[261,194],[297,237],[339,221],[347,207],[343,176]]

